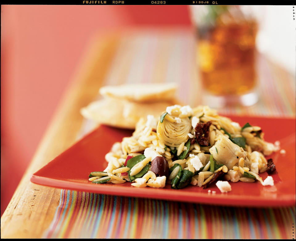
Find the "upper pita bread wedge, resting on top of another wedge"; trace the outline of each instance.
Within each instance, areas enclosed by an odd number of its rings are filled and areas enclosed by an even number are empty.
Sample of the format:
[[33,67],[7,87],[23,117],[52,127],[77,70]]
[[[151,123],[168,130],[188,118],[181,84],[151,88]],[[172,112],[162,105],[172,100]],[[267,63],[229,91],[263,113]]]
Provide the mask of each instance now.
[[118,86],[104,86],[100,94],[105,97],[126,99],[134,102],[171,101],[175,98],[177,84],[124,84]]

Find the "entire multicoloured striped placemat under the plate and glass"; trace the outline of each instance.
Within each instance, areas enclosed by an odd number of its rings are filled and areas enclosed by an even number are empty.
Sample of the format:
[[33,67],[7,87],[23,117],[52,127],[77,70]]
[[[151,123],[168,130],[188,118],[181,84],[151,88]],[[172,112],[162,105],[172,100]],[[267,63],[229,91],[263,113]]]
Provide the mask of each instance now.
[[[202,104],[194,34],[188,30],[130,32],[121,38],[104,85],[177,82],[178,96]],[[220,113],[295,116],[295,77],[258,57],[260,101]],[[186,94],[185,94],[186,93]],[[84,121],[78,138],[94,123]],[[295,207],[235,208],[61,190],[44,238],[293,239]]]

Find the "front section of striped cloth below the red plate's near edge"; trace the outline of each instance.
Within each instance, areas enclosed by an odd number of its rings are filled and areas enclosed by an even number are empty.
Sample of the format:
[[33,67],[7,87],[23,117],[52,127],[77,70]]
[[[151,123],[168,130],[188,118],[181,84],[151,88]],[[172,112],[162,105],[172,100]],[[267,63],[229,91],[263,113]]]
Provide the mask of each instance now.
[[62,190],[44,238],[292,239],[295,208],[234,208]]

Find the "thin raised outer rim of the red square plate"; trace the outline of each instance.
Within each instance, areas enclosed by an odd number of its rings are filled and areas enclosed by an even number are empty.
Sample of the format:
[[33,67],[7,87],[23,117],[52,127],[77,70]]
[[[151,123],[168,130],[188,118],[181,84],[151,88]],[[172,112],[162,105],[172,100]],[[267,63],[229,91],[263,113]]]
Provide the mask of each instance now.
[[[295,126],[296,126],[296,118],[294,117],[284,117],[284,118],[279,118],[278,116],[244,116],[244,115],[224,115],[228,118],[232,117],[239,117],[239,118],[244,118],[244,117],[251,117],[251,118],[260,118],[260,119],[287,119],[287,120],[295,120]],[[76,140],[70,147],[65,149],[63,152],[61,152],[59,155],[57,155],[54,159],[52,159],[50,162],[54,161],[56,158],[58,158],[60,155],[62,155],[64,152],[72,149],[77,143],[81,142],[84,138],[87,138],[89,135],[94,133],[101,125],[97,125],[95,129],[90,131],[89,133],[86,133],[80,139]],[[105,125],[103,125],[105,126]],[[110,127],[110,126],[108,126]],[[116,128],[116,127],[111,127],[111,128]],[[121,128],[116,128],[116,129],[121,129]],[[48,163],[50,163],[48,162]],[[47,164],[48,164],[47,163]],[[39,170],[43,169],[45,166],[39,168]],[[61,189],[69,189],[69,190],[76,190],[76,191],[84,191],[84,192],[95,192],[95,193],[100,193],[100,194],[105,194],[105,195],[114,195],[114,196],[124,196],[124,197],[136,197],[136,198],[148,198],[148,199],[158,199],[158,200],[167,200],[167,201],[181,201],[181,202],[188,202],[188,203],[199,203],[199,204],[205,204],[205,205],[219,205],[219,206],[237,206],[237,207],[288,207],[288,206],[295,206],[296,202],[296,194],[287,194],[288,197],[290,198],[281,198],[281,199],[272,199],[269,200],[268,202],[266,199],[260,198],[255,199],[253,196],[249,196],[250,198],[247,198],[247,201],[250,201],[248,205],[246,205],[244,202],[241,203],[241,198],[239,196],[241,195],[233,195],[231,198],[227,197],[227,193],[218,195],[215,197],[215,194],[208,194],[208,193],[198,193],[198,199],[194,199],[195,195],[189,196],[186,192],[182,192],[182,195],[179,195],[179,192],[176,192],[176,194],[172,194],[170,192],[169,196],[166,196],[166,192],[163,190],[167,189],[162,189],[162,191],[159,191],[158,189],[152,189],[154,190],[153,192],[156,193],[155,197],[147,197],[147,196],[141,196],[141,195],[150,195],[150,192],[152,191],[145,191],[145,188],[138,188],[137,192],[133,192],[130,187],[117,187],[115,186],[114,188],[109,188],[109,185],[100,185],[100,188],[96,188],[93,185],[89,185],[89,183],[80,183],[80,182],[73,182],[73,181],[67,181],[67,180],[59,180],[55,178],[49,178],[49,177],[43,177],[36,175],[38,172],[34,172],[31,175],[30,181],[35,184],[39,185],[44,185],[48,187],[53,187],[53,188],[61,188]],[[119,189],[118,189],[119,188]],[[155,192],[156,191],[156,192]],[[171,189],[170,189],[171,191]],[[157,193],[159,192],[159,193]],[[293,196],[293,197],[292,197]],[[247,196],[248,197],[248,196]],[[201,199],[201,200],[200,200]],[[225,202],[227,200],[227,202]]]

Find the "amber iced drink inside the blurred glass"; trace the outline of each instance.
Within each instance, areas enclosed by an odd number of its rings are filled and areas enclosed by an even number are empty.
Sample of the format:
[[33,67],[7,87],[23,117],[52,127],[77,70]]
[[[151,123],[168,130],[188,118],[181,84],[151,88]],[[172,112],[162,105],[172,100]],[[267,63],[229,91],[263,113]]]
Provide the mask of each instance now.
[[255,87],[256,32],[255,22],[199,28],[199,70],[209,93],[243,95]]

